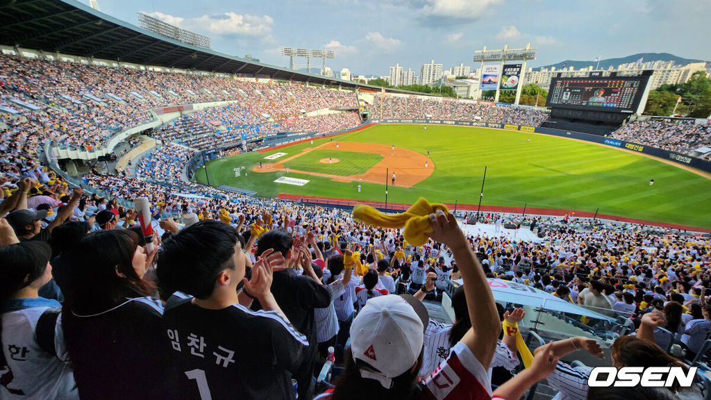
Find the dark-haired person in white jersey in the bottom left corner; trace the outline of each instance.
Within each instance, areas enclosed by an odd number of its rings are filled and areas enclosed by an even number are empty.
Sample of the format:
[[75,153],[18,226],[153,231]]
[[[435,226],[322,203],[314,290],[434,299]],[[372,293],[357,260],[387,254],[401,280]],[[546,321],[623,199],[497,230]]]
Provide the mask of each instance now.
[[52,279],[40,241],[0,247],[0,399],[78,399],[62,340],[60,303],[38,291]]

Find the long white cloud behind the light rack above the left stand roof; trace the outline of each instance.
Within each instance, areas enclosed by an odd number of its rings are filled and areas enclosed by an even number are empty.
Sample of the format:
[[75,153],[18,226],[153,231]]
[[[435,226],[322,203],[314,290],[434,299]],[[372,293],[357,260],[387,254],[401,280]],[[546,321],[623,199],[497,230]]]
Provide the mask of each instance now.
[[196,18],[184,19],[155,11],[147,13],[161,21],[172,23],[191,31],[203,31],[215,36],[247,35],[268,36],[272,32],[274,19],[268,15],[254,16],[250,14],[237,14],[228,11],[223,14],[203,15]]

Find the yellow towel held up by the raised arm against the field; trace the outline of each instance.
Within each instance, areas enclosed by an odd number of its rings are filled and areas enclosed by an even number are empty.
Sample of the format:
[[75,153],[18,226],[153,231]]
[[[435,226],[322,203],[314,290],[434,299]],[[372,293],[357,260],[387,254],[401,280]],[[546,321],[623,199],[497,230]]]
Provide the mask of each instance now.
[[444,213],[449,213],[444,204],[429,204],[429,202],[420,197],[417,203],[412,204],[410,209],[404,213],[388,215],[373,209],[373,207],[365,204],[358,204],[353,208],[353,216],[360,221],[370,223],[373,226],[383,228],[402,228],[403,236],[412,246],[423,246],[427,243],[427,235],[425,233],[432,232],[432,226],[429,223],[429,214],[434,211],[442,210]]

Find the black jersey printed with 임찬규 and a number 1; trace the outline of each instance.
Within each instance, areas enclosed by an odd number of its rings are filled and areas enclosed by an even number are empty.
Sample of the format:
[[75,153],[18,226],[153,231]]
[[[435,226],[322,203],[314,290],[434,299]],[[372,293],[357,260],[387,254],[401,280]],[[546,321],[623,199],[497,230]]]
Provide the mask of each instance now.
[[238,304],[207,310],[181,297],[164,314],[176,399],[294,399],[287,371],[309,343],[286,318]]

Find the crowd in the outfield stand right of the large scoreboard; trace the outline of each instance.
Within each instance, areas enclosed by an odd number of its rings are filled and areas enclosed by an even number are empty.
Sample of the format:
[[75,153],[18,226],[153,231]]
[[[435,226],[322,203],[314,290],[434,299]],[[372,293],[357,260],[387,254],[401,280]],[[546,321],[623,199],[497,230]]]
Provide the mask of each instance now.
[[[611,135],[614,139],[625,140],[658,147],[683,154],[690,154],[700,147],[711,147],[711,125],[696,124],[693,121],[647,120],[632,121]],[[711,159],[711,152],[702,156]]]

